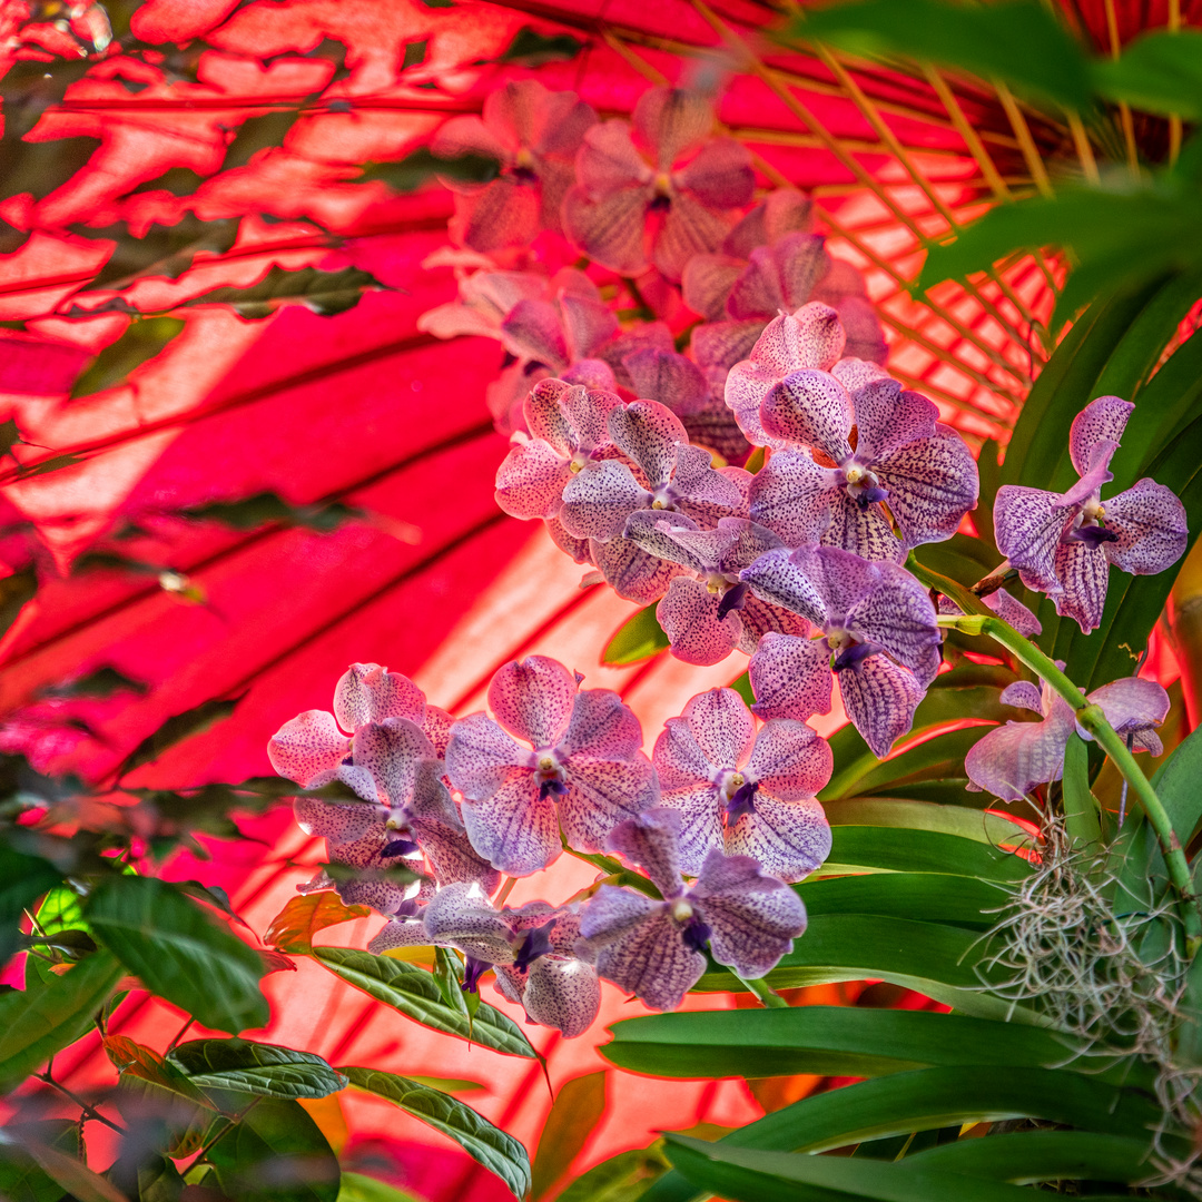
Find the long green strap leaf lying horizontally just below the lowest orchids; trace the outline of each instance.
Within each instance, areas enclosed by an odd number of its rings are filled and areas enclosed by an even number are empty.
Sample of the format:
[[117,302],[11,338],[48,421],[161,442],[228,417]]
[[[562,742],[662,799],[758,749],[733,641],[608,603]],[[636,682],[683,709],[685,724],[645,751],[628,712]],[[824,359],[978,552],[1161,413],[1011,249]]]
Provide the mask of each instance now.
[[[1072,1043],[1019,1023],[923,1010],[795,1006],[627,1018],[609,1027],[601,1054],[655,1077],[877,1077],[923,1067],[1060,1067],[1090,1079],[1150,1084],[1112,1060],[1075,1059]],[[1108,1073],[1100,1076],[1100,1069]]]

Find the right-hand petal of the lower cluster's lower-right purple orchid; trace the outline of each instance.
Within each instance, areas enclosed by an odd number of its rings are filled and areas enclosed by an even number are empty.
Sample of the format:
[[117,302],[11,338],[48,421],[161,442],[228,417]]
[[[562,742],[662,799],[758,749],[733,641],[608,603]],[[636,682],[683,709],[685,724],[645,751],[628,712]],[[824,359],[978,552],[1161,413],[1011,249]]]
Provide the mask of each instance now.
[[712,851],[690,894],[710,928],[719,964],[742,977],[762,977],[793,950],[805,930],[805,906],[787,885],[760,871],[748,856]]

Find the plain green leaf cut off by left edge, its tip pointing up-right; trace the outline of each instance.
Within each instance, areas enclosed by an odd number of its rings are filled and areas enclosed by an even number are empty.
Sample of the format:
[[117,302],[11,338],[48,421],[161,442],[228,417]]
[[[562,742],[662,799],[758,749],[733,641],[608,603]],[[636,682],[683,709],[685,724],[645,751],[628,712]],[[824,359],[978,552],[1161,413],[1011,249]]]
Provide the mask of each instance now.
[[0,994],[0,1093],[87,1033],[120,976],[117,960],[97,952],[50,981]]

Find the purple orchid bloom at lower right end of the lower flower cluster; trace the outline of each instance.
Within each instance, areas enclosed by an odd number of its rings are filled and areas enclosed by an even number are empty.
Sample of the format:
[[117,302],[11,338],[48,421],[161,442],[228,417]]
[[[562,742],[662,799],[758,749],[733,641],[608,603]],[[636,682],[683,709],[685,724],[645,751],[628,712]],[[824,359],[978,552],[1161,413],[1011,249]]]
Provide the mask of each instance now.
[[805,906],[748,856],[710,851],[686,889],[677,846],[680,815],[653,810],[614,827],[609,850],[642,867],[662,902],[602,885],[584,908],[578,953],[654,1010],[674,1010],[706,971],[702,954],[742,977],[762,977],[805,930]]

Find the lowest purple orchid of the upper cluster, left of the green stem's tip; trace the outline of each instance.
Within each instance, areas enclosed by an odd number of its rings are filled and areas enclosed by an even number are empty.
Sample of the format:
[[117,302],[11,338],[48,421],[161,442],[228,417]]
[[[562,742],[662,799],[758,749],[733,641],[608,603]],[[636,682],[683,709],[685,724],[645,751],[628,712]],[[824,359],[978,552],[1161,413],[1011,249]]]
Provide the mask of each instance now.
[[829,712],[832,676],[856,730],[883,758],[935,678],[940,633],[927,590],[897,564],[835,547],[769,551],[742,573],[754,593],[826,637],[768,633],[749,667],[760,718]]

